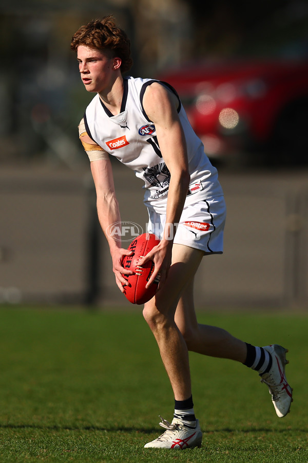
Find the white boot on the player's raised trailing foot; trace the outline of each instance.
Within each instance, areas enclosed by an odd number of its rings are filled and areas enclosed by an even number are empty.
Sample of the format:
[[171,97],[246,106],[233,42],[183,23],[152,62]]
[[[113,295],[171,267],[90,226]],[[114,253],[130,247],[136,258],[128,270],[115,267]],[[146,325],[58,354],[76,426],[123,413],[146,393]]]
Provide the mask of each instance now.
[[284,367],[288,363],[285,358],[287,349],[273,344],[271,346],[263,347],[269,354],[272,355],[272,367],[268,373],[260,375],[261,382],[265,383],[268,387],[269,394],[272,395],[272,402],[275,407],[276,413],[279,418],[284,417],[290,412],[292,399],[292,387],[288,384],[285,378]]

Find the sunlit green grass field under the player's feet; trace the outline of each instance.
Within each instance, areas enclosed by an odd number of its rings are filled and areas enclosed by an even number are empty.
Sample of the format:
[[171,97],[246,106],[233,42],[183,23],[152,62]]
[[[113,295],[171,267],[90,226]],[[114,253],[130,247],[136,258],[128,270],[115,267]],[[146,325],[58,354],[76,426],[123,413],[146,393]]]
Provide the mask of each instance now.
[[257,345],[290,352],[294,403],[276,417],[256,372],[191,354],[201,449],[161,451],[144,443],[172,419],[173,396],[141,313],[0,308],[0,462],[308,461],[308,316],[200,313]]

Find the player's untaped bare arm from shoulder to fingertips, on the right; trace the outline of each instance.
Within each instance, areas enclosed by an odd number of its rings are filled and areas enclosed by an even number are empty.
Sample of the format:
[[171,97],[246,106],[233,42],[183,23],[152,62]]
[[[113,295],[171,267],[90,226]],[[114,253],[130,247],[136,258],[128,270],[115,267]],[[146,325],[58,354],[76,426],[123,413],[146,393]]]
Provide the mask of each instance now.
[[171,174],[164,237],[160,244],[140,261],[141,265],[149,259],[155,263],[155,271],[147,286],[150,286],[158,273],[161,274],[160,284],[166,279],[171,265],[175,224],[180,220],[190,180],[185,137],[177,112],[178,105],[176,95],[162,84],[153,83],[147,87],[143,99],[144,110],[155,124],[160,150]]

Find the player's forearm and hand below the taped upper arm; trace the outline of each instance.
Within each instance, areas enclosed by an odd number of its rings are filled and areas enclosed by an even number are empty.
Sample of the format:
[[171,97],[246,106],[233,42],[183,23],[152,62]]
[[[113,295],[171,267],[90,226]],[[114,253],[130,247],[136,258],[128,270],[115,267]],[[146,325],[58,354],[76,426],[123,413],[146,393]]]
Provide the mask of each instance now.
[[123,274],[132,275],[133,272],[124,269],[122,259],[124,256],[130,256],[132,253],[121,247],[121,242],[115,236],[108,234],[108,227],[115,222],[120,222],[120,211],[117,198],[115,197],[112,166],[109,159],[100,159],[91,162],[91,172],[94,180],[95,190],[97,193],[98,217],[109,244],[112,258],[112,267],[115,280],[121,292],[124,292],[123,286],[128,283]]

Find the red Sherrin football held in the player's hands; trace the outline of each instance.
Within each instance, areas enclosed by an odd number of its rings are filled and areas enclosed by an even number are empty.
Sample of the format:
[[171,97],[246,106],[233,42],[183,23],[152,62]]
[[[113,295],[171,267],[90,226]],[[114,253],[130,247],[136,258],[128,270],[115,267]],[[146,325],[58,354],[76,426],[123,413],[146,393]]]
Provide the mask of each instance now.
[[144,304],[155,295],[158,289],[159,278],[156,278],[149,288],[145,288],[146,283],[153,273],[154,262],[148,260],[142,268],[138,263],[140,258],[146,256],[159,241],[156,235],[143,233],[132,240],[128,246],[128,250],[133,251],[134,254],[132,256],[125,256],[122,260],[122,265],[125,269],[135,272],[133,275],[123,275],[131,284],[131,286],[124,287],[124,294],[132,304]]

